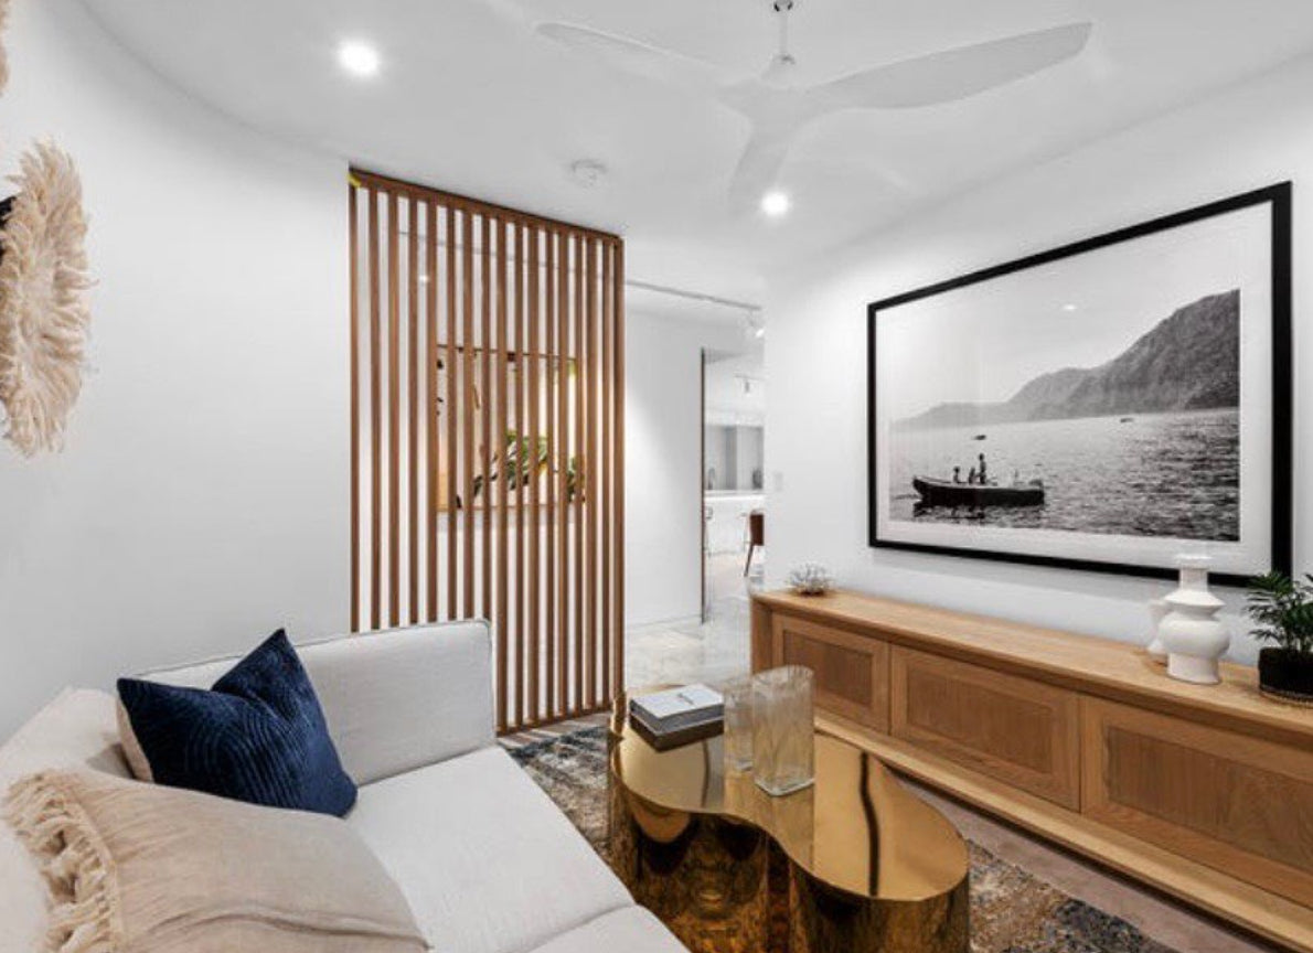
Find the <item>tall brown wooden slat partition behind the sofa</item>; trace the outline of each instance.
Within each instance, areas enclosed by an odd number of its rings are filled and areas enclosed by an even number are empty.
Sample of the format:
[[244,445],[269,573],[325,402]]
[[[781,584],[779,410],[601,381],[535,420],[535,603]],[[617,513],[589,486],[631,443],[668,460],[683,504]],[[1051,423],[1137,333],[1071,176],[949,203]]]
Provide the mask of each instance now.
[[351,627],[487,617],[502,732],[603,709],[624,677],[624,243],[351,181]]

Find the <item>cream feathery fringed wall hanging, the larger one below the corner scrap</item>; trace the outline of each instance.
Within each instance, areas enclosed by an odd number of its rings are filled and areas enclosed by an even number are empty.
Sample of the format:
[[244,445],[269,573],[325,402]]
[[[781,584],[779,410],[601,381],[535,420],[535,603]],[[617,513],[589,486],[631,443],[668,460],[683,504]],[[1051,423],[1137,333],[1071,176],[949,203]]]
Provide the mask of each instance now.
[[0,406],[5,438],[32,457],[62,448],[81,391],[87,219],[77,169],[55,146],[33,147],[11,181],[18,193],[0,205]]

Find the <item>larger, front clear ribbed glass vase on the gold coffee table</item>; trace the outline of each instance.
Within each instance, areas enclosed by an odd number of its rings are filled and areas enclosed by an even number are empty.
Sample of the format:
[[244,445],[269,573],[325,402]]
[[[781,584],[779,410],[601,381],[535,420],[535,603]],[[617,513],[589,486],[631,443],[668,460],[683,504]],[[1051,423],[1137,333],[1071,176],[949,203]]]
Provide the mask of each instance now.
[[779,797],[815,780],[813,675],[784,666],[752,676],[752,780]]

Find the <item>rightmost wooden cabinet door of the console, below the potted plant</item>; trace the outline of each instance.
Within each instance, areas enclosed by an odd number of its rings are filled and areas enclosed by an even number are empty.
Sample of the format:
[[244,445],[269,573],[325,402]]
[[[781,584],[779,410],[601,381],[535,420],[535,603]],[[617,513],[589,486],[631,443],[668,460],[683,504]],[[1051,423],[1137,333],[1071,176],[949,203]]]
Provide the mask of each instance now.
[[1085,814],[1313,906],[1313,751],[1082,701]]

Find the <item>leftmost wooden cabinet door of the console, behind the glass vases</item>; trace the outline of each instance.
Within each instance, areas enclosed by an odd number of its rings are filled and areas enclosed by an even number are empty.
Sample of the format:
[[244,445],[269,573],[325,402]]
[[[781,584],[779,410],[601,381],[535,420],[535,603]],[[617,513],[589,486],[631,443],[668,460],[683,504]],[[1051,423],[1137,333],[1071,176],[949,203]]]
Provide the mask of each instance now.
[[815,673],[817,708],[889,731],[889,643],[792,616],[775,616],[777,666]]

